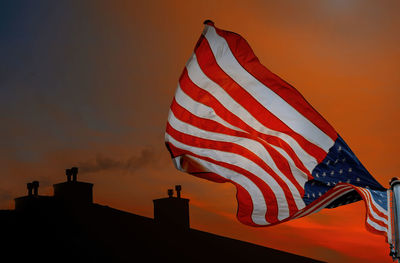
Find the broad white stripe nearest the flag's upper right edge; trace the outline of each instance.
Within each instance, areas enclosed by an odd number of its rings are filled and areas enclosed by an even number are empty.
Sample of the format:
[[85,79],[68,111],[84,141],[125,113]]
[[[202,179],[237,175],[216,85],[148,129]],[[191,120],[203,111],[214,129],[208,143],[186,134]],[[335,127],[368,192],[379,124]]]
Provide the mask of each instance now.
[[203,34],[210,44],[218,65],[226,74],[292,130],[328,152],[334,141],[284,99],[248,73],[236,60],[228,43],[217,34],[214,27],[206,25]]

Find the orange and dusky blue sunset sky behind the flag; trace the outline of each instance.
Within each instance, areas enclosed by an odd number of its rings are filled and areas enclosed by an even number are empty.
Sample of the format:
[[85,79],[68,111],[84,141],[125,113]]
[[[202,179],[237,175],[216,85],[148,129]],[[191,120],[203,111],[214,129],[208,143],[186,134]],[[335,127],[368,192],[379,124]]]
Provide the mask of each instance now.
[[400,176],[400,1],[0,3],[0,209],[78,166],[94,201],[152,217],[175,184],[191,226],[328,262],[392,262],[362,202],[252,228],[235,187],[178,172],[164,146],[178,78],[211,19],[296,87],[385,187]]

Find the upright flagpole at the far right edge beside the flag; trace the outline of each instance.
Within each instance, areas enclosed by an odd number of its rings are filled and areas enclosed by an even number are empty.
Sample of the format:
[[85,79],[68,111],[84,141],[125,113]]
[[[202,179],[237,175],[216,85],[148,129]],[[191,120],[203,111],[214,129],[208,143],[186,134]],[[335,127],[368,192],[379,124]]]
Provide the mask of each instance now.
[[[394,232],[394,247],[393,244],[390,244],[391,246],[391,251],[390,255],[392,256],[393,260],[399,260],[400,256],[400,180],[397,177],[393,177],[392,180],[390,181],[390,188],[392,189],[392,195],[393,195],[393,219],[394,219],[394,226],[393,226],[393,232]],[[390,206],[390,204],[388,204]],[[391,222],[388,222],[389,224]],[[388,233],[389,234],[389,233]],[[388,237],[388,241],[391,240],[391,238]],[[399,261],[398,261],[399,262]]]

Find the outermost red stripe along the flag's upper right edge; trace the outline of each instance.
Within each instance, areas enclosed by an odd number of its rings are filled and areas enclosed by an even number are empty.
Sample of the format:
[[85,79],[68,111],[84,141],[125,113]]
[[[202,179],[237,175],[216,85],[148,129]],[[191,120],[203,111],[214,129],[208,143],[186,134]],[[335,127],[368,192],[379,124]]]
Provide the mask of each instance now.
[[214,28],[217,34],[227,41],[232,54],[247,72],[314,123],[333,141],[336,140],[338,135],[335,129],[304,99],[300,92],[263,66],[243,37]]

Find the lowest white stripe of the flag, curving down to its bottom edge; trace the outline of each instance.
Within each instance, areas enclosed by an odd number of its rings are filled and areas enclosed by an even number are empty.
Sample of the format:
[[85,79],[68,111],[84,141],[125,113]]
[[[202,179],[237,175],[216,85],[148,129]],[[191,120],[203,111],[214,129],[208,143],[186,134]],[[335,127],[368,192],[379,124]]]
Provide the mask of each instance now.
[[[177,148],[185,149],[188,146],[183,145],[182,143],[179,143],[175,141],[172,137],[169,137],[169,142],[173,144]],[[182,147],[183,146],[183,147]],[[194,149],[193,147],[190,147],[191,149]],[[211,158],[210,156],[207,156]],[[201,164],[205,168],[209,169],[210,171],[215,171],[218,175],[228,179],[232,180],[233,182],[239,184],[242,186],[250,195],[252,203],[253,203],[253,211],[251,214],[251,218],[254,223],[258,225],[268,225],[269,223],[265,219],[265,215],[267,213],[267,205],[265,204],[265,199],[260,191],[260,189],[246,176],[237,173],[233,170],[227,169],[225,167],[219,166],[217,164],[207,162],[205,160],[199,159],[194,156],[190,156],[193,160],[195,160],[197,163]],[[211,158],[212,159],[212,158]]]

